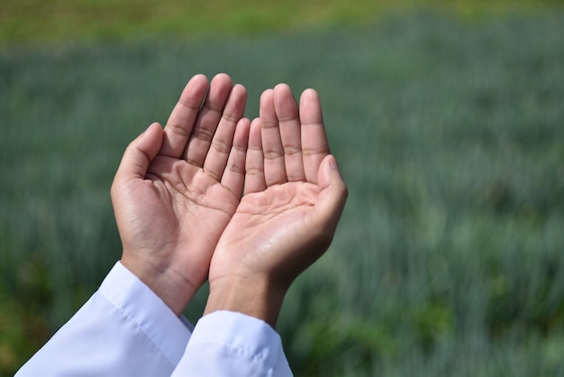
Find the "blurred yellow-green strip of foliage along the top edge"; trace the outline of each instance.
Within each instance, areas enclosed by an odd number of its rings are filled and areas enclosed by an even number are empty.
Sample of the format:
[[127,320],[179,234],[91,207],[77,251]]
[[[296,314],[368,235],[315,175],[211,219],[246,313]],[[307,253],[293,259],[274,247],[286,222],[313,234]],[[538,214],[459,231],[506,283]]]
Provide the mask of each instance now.
[[414,8],[476,17],[562,5],[561,0],[3,0],[0,43],[247,34],[367,24]]

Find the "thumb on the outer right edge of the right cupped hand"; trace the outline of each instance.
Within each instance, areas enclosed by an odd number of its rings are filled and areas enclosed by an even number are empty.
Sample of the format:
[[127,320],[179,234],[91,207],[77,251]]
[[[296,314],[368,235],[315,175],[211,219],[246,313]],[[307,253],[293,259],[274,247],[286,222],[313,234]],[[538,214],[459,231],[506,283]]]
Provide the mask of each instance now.
[[332,154],[323,158],[317,172],[317,182],[321,189],[315,204],[318,220],[326,231],[333,233],[345,207],[349,191]]

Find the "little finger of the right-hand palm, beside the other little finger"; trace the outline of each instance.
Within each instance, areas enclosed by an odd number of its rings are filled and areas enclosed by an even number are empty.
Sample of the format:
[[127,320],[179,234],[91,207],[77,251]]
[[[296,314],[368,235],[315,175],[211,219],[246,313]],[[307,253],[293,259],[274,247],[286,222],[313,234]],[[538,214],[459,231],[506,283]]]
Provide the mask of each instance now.
[[264,179],[264,155],[262,153],[259,118],[250,123],[249,143],[245,161],[245,189],[243,195],[267,189]]

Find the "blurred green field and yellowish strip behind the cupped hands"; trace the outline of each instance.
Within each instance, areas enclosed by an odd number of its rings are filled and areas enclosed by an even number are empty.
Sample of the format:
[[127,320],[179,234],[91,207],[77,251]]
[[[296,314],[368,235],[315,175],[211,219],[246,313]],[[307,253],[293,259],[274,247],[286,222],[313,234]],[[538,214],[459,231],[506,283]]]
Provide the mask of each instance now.
[[563,2],[390,3],[0,2],[0,375],[119,258],[127,143],[218,72],[248,116],[315,87],[350,188],[278,322],[297,376],[564,375]]

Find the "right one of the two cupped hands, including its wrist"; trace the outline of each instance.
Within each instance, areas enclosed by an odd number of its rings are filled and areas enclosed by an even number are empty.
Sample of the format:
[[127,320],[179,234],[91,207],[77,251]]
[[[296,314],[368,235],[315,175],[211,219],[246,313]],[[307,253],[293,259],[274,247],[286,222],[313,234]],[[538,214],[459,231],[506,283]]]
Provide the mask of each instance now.
[[244,196],[210,265],[205,314],[238,311],[275,326],[291,282],[329,247],[347,188],[329,146],[319,97],[300,106],[278,85],[250,124]]

